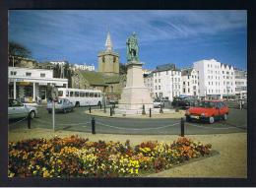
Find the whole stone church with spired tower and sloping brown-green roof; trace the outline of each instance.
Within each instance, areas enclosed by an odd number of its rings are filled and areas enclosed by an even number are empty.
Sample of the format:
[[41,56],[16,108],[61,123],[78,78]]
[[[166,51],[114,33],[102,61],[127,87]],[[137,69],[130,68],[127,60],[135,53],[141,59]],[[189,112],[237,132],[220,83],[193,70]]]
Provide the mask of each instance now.
[[100,90],[108,100],[117,101],[126,84],[126,75],[119,74],[119,54],[113,51],[110,33],[107,33],[105,50],[98,52],[98,71],[75,70],[72,88]]

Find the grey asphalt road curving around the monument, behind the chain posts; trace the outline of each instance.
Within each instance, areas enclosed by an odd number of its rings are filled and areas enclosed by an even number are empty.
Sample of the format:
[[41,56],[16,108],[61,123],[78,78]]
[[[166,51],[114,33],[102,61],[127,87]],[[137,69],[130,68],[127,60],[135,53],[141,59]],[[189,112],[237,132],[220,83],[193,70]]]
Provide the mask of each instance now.
[[[93,107],[94,110],[95,107]],[[92,115],[86,114],[88,107],[76,108],[70,113],[57,113],[56,130],[91,132]],[[52,115],[45,107],[38,107],[38,117],[32,120],[32,128],[52,129]],[[136,118],[96,118],[96,133],[128,135],[179,135],[180,119],[136,119]],[[9,130],[26,128],[27,120],[12,121]],[[214,124],[185,123],[185,134],[225,134],[247,131],[247,110],[230,109],[228,119]]]

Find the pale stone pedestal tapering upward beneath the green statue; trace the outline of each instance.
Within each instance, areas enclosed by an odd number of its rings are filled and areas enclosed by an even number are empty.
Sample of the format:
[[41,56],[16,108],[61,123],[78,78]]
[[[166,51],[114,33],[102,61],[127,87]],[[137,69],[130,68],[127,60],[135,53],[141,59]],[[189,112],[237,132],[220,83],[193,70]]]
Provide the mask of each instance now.
[[126,87],[123,89],[118,108],[124,110],[139,110],[153,108],[150,90],[144,86],[142,63],[129,62],[127,67]]

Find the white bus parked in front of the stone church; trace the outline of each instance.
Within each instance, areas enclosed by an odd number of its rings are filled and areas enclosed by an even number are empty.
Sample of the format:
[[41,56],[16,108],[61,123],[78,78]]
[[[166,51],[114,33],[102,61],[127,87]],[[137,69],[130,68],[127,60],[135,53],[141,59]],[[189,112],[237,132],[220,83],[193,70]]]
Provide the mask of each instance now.
[[75,106],[100,105],[101,91],[58,88],[58,97],[69,99]]

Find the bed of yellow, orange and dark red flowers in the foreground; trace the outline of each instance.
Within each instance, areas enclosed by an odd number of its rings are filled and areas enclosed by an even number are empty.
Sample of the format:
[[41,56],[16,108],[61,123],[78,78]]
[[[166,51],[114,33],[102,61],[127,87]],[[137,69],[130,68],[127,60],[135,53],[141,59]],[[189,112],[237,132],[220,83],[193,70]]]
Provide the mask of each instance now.
[[186,138],[170,144],[91,142],[71,136],[9,143],[9,176],[122,177],[159,172],[190,158],[210,155],[212,146]]

